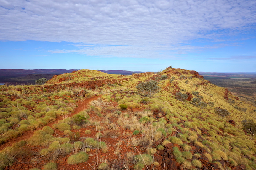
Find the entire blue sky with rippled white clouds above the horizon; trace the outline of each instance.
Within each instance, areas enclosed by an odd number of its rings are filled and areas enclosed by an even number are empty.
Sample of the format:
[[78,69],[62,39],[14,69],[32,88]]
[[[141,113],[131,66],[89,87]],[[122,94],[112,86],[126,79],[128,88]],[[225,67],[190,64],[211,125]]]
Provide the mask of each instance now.
[[256,72],[255,0],[0,0],[0,69]]

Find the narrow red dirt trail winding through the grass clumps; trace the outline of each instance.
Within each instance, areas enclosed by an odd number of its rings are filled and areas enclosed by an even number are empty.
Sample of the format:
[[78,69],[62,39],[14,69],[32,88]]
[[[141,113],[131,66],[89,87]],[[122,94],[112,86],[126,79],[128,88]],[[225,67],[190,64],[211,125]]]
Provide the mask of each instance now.
[[[93,101],[93,100],[97,100],[97,98],[99,98],[99,96],[93,96],[93,97],[90,97],[90,98],[86,98],[84,101],[82,101],[81,103],[78,104],[78,107],[75,108],[74,112],[71,113],[70,117],[72,117],[73,115],[85,110],[87,108],[87,105]],[[54,121],[48,123],[47,125],[45,126],[52,126],[54,123],[58,123],[59,120],[62,120],[62,117],[57,117]],[[23,133],[21,136],[17,137],[17,138],[13,138],[13,139],[10,139],[8,142],[0,145],[0,150],[8,147],[8,146],[12,146],[13,143],[15,142],[18,142],[18,141],[21,141],[21,140],[28,140],[31,136],[33,136],[34,134],[34,131],[36,130],[42,130],[43,127],[39,127],[39,128],[36,128],[35,130],[31,131],[26,131],[25,133]]]

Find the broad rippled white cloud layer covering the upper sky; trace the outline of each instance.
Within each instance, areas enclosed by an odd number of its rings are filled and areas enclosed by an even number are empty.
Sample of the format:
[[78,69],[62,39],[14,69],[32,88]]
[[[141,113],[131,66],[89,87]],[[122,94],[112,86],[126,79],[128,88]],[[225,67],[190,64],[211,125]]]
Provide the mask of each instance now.
[[198,38],[239,39],[255,23],[255,0],[0,0],[0,41],[126,45],[72,51],[87,55],[153,57]]

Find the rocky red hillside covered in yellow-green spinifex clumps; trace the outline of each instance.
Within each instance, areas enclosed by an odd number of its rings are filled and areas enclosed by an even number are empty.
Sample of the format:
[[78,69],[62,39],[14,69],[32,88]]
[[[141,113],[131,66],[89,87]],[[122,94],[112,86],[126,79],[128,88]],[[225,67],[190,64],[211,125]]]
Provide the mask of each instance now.
[[256,169],[242,129],[256,107],[195,71],[78,70],[0,91],[0,169]]

